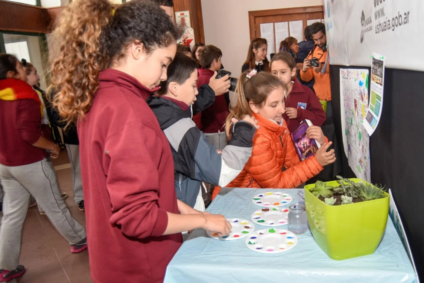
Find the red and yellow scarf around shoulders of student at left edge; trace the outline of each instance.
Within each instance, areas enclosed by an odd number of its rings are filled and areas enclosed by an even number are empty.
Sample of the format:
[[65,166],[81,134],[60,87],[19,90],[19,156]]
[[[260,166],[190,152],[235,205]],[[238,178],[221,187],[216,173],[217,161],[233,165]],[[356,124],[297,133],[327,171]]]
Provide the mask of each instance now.
[[43,105],[31,85],[21,79],[0,79],[0,99],[13,101],[17,99],[34,99],[38,102],[43,117]]

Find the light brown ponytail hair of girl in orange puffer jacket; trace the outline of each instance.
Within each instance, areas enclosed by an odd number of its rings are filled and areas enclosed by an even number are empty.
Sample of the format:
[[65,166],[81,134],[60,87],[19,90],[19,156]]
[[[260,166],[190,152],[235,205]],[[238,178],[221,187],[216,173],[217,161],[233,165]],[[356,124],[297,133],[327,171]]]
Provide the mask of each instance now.
[[245,71],[237,80],[235,90],[235,93],[237,93],[237,102],[234,108],[230,105],[230,114],[225,121],[227,140],[230,140],[232,136],[231,119],[243,119],[245,115],[252,115],[249,102],[262,106],[271,91],[283,88],[287,92],[287,87],[276,76],[266,72],[259,72],[249,79],[247,77],[249,73],[250,70]]

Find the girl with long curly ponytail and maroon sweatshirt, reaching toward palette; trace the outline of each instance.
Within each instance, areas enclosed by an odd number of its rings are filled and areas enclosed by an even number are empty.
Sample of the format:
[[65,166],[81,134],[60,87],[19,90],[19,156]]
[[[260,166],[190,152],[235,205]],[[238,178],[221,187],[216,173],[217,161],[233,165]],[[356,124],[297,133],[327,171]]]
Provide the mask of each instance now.
[[181,32],[151,1],[74,0],[54,33],[53,105],[78,123],[92,280],[162,282],[182,231],[231,229],[177,201],[170,144],[145,102]]

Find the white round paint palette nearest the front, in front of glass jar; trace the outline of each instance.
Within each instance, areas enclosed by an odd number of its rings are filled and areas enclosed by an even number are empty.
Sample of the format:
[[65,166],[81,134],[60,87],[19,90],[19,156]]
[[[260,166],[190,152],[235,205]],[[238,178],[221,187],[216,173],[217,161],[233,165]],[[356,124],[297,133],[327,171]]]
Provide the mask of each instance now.
[[245,243],[254,252],[278,254],[293,249],[297,245],[297,236],[284,229],[262,229],[249,235]]

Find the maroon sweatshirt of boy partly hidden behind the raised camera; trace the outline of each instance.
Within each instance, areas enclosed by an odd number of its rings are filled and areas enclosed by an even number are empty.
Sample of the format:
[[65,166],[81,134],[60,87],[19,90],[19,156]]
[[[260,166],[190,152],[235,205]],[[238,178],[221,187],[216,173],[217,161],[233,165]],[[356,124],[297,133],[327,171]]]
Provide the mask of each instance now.
[[[209,80],[212,78],[215,72],[211,70],[202,69],[200,76],[197,80],[197,88],[202,85],[209,84]],[[202,111],[201,121],[204,133],[218,133],[218,131],[225,131],[225,119],[227,119],[229,112],[227,103],[225,102],[225,96],[215,96],[215,102]]]

